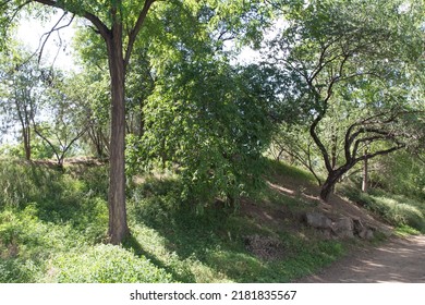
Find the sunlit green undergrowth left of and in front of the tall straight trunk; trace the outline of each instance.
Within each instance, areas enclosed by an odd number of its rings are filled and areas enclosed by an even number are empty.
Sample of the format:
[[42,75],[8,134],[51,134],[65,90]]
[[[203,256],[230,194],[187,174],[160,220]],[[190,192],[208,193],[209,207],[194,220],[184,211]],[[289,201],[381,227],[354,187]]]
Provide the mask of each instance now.
[[122,248],[94,246],[108,224],[105,169],[63,173],[9,162],[1,168],[1,282],[170,280]]

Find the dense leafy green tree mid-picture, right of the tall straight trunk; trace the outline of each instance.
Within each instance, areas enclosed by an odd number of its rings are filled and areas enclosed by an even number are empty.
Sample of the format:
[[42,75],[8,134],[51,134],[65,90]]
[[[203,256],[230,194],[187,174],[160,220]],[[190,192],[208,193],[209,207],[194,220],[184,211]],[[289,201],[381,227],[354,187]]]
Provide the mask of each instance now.
[[271,130],[263,71],[229,65],[222,39],[234,29],[221,24],[221,34],[211,33],[218,14],[211,8],[169,13],[179,22],[159,23],[166,38],[154,39],[147,51],[153,93],[144,100],[143,136],[127,137],[127,169],[179,168],[185,202],[201,207],[219,197],[232,205],[247,184],[260,180],[260,156]]

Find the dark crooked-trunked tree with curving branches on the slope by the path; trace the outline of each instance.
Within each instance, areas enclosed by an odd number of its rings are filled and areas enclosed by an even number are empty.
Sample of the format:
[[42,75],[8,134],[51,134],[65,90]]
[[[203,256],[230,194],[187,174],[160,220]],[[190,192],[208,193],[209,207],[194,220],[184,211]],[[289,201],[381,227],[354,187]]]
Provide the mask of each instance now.
[[402,1],[311,1],[292,8],[270,44],[267,60],[291,93],[286,102],[309,108],[324,200],[356,163],[421,142],[422,112],[410,94],[418,86],[411,76],[423,52],[421,11]]

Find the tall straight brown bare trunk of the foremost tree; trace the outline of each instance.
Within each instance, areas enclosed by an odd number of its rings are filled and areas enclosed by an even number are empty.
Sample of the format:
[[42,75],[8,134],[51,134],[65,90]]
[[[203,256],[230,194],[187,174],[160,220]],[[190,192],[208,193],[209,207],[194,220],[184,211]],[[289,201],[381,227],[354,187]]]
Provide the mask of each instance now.
[[124,61],[122,53],[122,25],[114,25],[107,41],[111,75],[111,142],[109,178],[109,241],[120,244],[130,233],[125,208],[125,103]]

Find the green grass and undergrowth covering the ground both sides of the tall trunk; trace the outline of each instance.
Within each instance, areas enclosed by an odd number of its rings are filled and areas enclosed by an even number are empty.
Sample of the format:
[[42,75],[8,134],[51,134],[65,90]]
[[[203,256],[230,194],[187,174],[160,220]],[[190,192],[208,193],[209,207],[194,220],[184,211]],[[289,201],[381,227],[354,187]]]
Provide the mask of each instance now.
[[[284,166],[272,174],[311,181]],[[299,223],[308,203],[296,197],[266,187],[245,199],[257,213],[214,205],[198,213],[180,202],[181,182],[170,175],[129,184],[132,235],[105,245],[106,190],[102,167],[62,172],[2,161],[0,282],[289,282],[344,253],[343,243]],[[250,251],[250,236],[276,241],[278,258]]]

